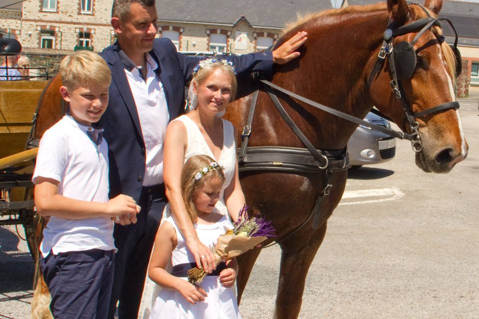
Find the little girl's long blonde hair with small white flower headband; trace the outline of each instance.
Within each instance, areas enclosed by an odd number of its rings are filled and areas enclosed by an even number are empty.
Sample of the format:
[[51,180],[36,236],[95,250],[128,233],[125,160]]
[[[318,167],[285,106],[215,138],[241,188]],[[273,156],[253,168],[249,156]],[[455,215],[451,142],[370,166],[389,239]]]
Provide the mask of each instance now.
[[[198,209],[196,209],[193,203],[196,191],[201,189],[205,182],[213,177],[218,177],[225,182],[223,167],[218,164],[214,167],[211,165],[212,163],[217,164],[215,160],[207,155],[195,155],[186,161],[181,171],[181,195],[185,202],[186,211],[188,215],[190,215],[193,223],[196,223],[199,214]],[[203,171],[205,167],[207,168],[207,172]]]

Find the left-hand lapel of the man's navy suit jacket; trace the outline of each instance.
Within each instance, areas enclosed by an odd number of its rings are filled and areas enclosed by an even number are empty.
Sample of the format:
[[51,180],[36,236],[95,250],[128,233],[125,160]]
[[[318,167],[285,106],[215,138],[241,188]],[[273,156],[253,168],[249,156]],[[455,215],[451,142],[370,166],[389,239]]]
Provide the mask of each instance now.
[[133,99],[133,95],[131,94],[130,84],[128,83],[125,71],[123,70],[123,65],[121,64],[119,58],[115,59],[115,61],[112,63],[111,77],[113,79],[113,82],[115,82],[116,87],[118,88],[118,92],[120,93],[120,96],[123,99],[123,102],[125,103],[128,112],[130,113],[130,117],[135,123],[136,130],[143,138],[143,135],[141,133],[140,118],[136,109],[135,100]]

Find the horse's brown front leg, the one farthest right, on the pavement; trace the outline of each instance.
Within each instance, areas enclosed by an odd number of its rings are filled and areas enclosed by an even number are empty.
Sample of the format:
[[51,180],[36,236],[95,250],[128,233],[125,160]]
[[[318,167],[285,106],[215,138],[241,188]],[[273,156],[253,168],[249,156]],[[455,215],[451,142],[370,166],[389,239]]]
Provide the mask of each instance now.
[[[306,231],[306,230],[304,230]],[[304,282],[316,252],[326,233],[326,223],[309,235],[309,239],[295,236],[281,244],[281,268],[278,294],[276,297],[275,319],[297,318],[301,309]],[[300,243],[304,243],[301,245]]]

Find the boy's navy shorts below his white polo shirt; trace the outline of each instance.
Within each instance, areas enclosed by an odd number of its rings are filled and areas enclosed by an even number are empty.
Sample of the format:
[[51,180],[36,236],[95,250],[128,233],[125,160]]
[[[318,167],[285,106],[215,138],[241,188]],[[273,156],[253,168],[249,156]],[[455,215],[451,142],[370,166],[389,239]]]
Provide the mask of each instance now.
[[42,258],[40,267],[51,295],[56,319],[97,318],[108,315],[115,253],[91,249]]

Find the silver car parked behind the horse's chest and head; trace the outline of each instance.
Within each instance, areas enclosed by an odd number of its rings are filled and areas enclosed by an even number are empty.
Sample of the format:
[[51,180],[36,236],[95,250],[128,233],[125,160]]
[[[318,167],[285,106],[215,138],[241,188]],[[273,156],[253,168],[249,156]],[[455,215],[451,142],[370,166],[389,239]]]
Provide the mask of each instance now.
[[[391,129],[388,120],[369,112],[364,118],[372,124]],[[352,168],[392,160],[396,155],[396,139],[360,125],[348,142],[349,162]]]

